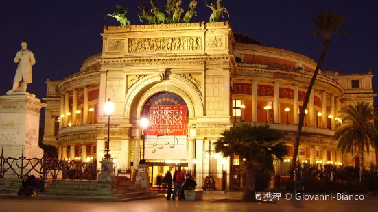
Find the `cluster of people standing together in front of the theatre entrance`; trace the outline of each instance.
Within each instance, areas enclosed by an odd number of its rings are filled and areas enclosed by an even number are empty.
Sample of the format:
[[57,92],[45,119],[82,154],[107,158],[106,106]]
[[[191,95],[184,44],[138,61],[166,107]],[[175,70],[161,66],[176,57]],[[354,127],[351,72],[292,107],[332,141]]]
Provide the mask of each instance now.
[[[186,176],[186,178],[185,178]],[[171,168],[167,171],[163,178],[163,182],[167,183],[167,200],[175,201],[176,194],[178,194],[178,201],[185,200],[184,191],[195,189],[197,183],[190,174],[185,174],[181,170],[181,166],[178,166],[178,170],[174,172],[174,176],[171,174]],[[173,182],[173,183],[172,183]],[[172,184],[174,185],[174,191],[172,194]],[[172,195],[172,197],[171,197]]]

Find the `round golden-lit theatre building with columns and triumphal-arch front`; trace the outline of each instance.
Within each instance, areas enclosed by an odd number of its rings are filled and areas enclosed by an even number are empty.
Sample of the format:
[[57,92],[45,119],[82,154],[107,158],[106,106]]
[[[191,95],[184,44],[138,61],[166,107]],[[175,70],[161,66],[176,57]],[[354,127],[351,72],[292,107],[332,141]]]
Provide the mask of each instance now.
[[[237,122],[283,131],[290,151],[286,163],[274,165],[277,173],[287,172],[313,59],[263,46],[233,32],[228,22],[113,26],[101,36],[102,53],[73,75],[47,80],[43,142],[57,146],[60,159],[101,161],[108,137],[103,107],[110,99],[110,153],[117,170],[137,168],[143,155],[140,120],[148,118],[144,146],[153,184],[169,166],[182,165],[226,170],[228,186],[241,186],[242,159],[213,152],[220,133]],[[372,77],[371,70],[320,70],[306,109],[301,161],[359,165],[358,153],[337,151],[333,134],[342,107],[373,105]],[[376,161],[375,153],[365,155],[366,165]],[[199,186],[204,177],[196,175]]]

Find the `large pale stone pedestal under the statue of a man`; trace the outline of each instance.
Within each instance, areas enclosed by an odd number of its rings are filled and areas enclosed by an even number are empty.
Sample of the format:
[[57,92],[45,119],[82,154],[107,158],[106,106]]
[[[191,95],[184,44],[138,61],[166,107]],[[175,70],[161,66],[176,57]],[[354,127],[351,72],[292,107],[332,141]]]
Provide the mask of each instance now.
[[0,96],[0,148],[3,148],[3,157],[19,158],[22,154],[27,159],[43,157],[38,137],[40,109],[45,106],[28,92],[7,92]]

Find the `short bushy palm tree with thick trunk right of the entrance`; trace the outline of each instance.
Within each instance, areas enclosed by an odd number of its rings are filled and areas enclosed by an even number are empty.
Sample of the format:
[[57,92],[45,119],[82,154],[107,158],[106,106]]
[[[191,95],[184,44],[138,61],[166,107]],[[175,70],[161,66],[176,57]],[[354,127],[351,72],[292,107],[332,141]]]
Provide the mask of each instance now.
[[282,159],[287,154],[287,146],[279,140],[283,134],[268,124],[241,123],[222,133],[215,142],[215,152],[224,157],[239,155],[246,159],[246,185],[243,200],[255,200],[255,168],[274,170],[274,159]]

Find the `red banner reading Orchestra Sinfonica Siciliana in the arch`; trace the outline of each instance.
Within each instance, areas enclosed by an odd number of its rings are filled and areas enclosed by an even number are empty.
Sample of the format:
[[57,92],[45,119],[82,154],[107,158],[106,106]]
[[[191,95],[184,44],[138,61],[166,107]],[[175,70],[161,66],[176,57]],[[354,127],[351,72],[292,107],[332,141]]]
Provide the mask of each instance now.
[[187,135],[187,105],[151,105],[147,135]]

